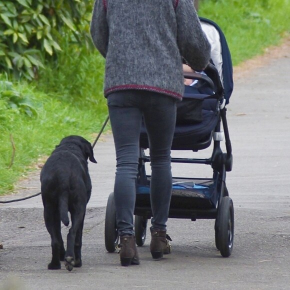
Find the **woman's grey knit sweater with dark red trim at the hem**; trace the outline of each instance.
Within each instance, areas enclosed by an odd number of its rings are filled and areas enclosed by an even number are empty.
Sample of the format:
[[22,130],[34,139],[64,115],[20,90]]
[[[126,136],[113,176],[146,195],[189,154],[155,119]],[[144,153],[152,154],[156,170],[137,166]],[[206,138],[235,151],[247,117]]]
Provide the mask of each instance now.
[[210,58],[193,0],[95,0],[90,33],[106,58],[104,95],[143,89],[182,98],[182,56],[195,70]]

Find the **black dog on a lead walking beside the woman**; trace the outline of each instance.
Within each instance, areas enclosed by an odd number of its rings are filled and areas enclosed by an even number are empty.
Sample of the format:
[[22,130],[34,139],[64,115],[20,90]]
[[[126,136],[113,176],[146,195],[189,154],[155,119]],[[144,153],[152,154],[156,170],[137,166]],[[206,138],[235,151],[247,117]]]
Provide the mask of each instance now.
[[[41,173],[41,196],[44,206],[45,226],[51,237],[52,258],[48,269],[81,266],[81,237],[86,204],[90,198],[91,181],[87,159],[93,163],[91,144],[80,136],[61,140],[46,160]],[[67,234],[66,251],[61,237],[60,220],[71,227]]]

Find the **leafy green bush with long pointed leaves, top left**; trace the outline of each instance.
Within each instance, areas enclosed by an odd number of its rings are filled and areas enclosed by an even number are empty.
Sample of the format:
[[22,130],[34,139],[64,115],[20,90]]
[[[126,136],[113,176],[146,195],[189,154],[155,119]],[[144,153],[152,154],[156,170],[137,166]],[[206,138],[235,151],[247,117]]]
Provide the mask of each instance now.
[[44,60],[61,51],[63,34],[91,45],[91,0],[0,1],[0,70],[16,78],[37,76]]

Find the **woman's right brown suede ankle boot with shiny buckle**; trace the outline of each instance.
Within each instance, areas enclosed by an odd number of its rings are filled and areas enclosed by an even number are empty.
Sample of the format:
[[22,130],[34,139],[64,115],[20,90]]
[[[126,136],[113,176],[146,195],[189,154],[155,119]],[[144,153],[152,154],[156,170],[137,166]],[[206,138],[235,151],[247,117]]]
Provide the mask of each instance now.
[[150,227],[151,232],[151,242],[150,242],[150,252],[153,259],[160,259],[163,254],[171,253],[171,244],[168,240],[172,240],[166,230],[160,230]]

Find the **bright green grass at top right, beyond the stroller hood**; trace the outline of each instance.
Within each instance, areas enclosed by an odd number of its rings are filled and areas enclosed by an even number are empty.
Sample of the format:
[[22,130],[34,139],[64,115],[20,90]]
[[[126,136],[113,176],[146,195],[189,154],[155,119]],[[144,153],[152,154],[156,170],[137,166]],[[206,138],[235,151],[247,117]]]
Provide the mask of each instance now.
[[221,27],[233,65],[262,54],[290,32],[290,0],[199,0],[198,14]]

